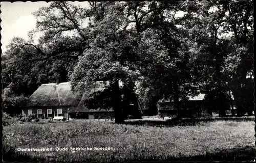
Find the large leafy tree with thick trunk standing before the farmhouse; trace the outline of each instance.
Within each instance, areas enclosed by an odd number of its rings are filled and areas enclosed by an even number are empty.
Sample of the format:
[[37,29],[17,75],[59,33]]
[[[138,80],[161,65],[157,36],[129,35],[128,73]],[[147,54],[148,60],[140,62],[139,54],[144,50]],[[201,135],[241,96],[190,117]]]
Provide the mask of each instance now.
[[[163,29],[164,25],[161,23],[164,21],[159,21],[159,19],[165,18],[163,14],[167,9],[170,10],[178,5],[177,3],[158,2],[115,3],[111,10],[104,10],[106,12],[104,18],[97,24],[92,23],[95,24],[92,34],[95,38],[92,38],[90,50],[86,50],[77,65],[77,72],[74,71],[72,74],[74,84],[78,81],[86,85],[97,80],[114,81],[115,99],[118,100],[120,99],[117,89],[118,80],[123,80],[125,83],[126,80],[132,79],[135,82],[139,76],[144,76],[140,79],[147,78],[154,83],[157,78],[153,74],[162,71],[163,75],[166,72],[164,84],[167,87],[169,83],[167,80],[170,78],[168,75],[173,73],[172,67],[175,66],[171,63],[175,58],[172,52],[176,48],[172,45],[175,44],[175,38],[170,37],[168,33],[169,47],[167,49],[164,45],[166,40],[161,39],[161,35],[165,35],[168,29]],[[171,23],[165,25],[169,25],[169,29],[174,28]],[[154,30],[154,28],[162,28],[165,33],[159,35],[160,30]],[[168,55],[167,50],[169,50]],[[82,72],[90,73],[78,75]],[[159,88],[161,80],[158,78],[157,81]],[[81,87],[79,85],[74,89]],[[115,107],[116,110],[118,110],[117,107],[118,105]],[[122,109],[117,115],[120,114],[122,114]],[[119,123],[118,119],[116,121]]]

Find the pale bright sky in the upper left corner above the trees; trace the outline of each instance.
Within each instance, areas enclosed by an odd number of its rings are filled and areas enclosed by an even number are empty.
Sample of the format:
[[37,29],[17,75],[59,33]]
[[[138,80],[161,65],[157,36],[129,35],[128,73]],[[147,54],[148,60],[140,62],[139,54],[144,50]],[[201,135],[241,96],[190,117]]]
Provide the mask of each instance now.
[[[74,2],[76,5],[86,7],[87,2]],[[1,2],[1,43],[2,52],[13,37],[27,39],[28,32],[35,29],[36,19],[32,12],[40,7],[49,6],[47,2]]]

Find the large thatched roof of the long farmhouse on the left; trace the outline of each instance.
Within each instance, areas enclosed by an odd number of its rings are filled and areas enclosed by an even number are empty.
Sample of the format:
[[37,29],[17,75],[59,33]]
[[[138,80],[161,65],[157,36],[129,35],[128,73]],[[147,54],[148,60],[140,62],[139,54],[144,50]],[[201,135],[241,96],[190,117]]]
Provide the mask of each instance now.
[[[106,83],[108,85],[108,83]],[[29,98],[24,105],[25,107],[38,107],[38,106],[70,106],[70,113],[77,112],[105,112],[106,110],[97,109],[89,110],[84,106],[84,101],[95,91],[101,91],[106,86],[103,82],[96,82],[92,89],[83,94],[77,92],[72,93],[71,85],[69,83],[60,84],[42,84]],[[119,82],[119,86],[122,84]],[[113,112],[113,110],[110,110]]]

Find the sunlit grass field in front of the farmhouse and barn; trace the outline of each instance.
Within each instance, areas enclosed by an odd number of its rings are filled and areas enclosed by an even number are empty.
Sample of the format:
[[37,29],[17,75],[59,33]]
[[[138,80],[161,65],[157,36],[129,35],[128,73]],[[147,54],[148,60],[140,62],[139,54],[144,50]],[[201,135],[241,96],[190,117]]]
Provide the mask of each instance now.
[[[3,129],[4,161],[245,161],[253,160],[253,119],[24,123]],[[17,148],[53,148],[19,152]],[[109,151],[56,151],[56,147],[115,147]]]

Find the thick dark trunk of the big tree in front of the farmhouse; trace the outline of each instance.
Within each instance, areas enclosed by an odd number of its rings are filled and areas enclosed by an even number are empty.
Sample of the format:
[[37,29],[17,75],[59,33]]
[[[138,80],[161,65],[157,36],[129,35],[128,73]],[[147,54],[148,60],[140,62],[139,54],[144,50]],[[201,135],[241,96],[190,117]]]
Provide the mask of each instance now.
[[115,123],[124,123],[123,109],[121,105],[121,93],[119,90],[118,79],[113,80],[113,97],[114,97],[114,113],[115,113]]

